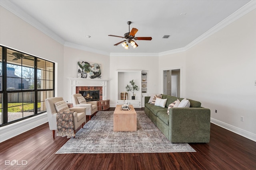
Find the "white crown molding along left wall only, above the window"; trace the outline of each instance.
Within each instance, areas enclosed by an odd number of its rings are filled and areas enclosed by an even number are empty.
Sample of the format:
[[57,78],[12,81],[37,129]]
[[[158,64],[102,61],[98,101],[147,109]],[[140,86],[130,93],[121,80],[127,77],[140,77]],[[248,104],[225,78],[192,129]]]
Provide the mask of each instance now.
[[44,26],[42,23],[40,23],[38,20],[30,16],[28,13],[26,13],[24,10],[20,9],[18,6],[14,5],[12,2],[8,0],[0,0],[0,6],[4,7],[6,10],[12,12],[14,15],[18,16],[22,20],[26,21],[36,29],[42,31],[44,34],[48,35],[58,43],[64,45],[65,41],[60,36],[58,36],[56,33],[54,33],[52,30],[48,29],[46,26]]

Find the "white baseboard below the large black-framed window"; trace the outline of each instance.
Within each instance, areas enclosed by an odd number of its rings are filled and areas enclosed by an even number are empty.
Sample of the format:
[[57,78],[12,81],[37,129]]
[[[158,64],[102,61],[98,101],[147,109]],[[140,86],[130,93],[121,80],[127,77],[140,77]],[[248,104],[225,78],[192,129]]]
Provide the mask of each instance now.
[[47,113],[0,127],[0,143],[48,122]]

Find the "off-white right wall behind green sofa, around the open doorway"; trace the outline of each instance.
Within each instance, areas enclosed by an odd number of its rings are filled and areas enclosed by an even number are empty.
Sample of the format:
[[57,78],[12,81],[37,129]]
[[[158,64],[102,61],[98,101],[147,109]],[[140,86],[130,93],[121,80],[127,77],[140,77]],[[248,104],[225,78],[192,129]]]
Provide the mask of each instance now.
[[[254,141],[255,16],[253,10],[185,53],[159,57],[159,76],[165,68],[182,66],[182,97],[198,100],[202,107],[209,108],[212,123]],[[244,121],[240,121],[240,116],[244,116]]]

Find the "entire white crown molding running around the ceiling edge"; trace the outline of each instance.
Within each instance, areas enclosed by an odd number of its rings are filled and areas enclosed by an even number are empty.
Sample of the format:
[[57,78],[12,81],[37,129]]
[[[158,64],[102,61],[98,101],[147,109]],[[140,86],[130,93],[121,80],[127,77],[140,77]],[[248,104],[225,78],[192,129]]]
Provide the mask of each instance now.
[[56,33],[51,31],[44,25],[42,25],[42,23],[38,22],[35,18],[28,15],[26,12],[21,10],[18,6],[14,5],[12,2],[7,1],[7,0],[0,0],[0,6],[6,8],[6,10],[12,12],[13,14],[18,16],[22,20],[24,20],[27,23],[29,23],[30,25],[36,27],[36,29],[42,31],[43,33],[45,33],[46,35],[48,35],[49,37],[51,37],[52,39],[56,40],[57,42],[59,42],[60,44],[66,46],[66,47],[72,47],[75,49],[80,49],[80,50],[89,51],[92,53],[98,53],[98,54],[102,54],[102,55],[108,55],[108,56],[126,56],[126,57],[127,56],[136,56],[136,57],[138,57],[138,56],[164,56],[164,55],[169,55],[169,54],[174,54],[174,53],[185,52],[188,49],[190,49],[191,47],[193,47],[194,45],[200,43],[204,39],[210,37],[211,35],[213,35],[214,33],[218,32],[218,31],[220,31],[221,29],[223,29],[230,23],[238,20],[245,14],[248,14],[252,10],[256,9],[256,0],[251,0],[250,2],[248,2],[247,4],[242,6],[240,9],[238,9],[236,12],[234,12],[233,14],[231,14],[230,16],[228,16],[227,18],[222,20],[220,23],[218,23],[217,25],[215,25],[214,27],[212,27],[211,29],[206,31],[204,34],[202,34],[200,37],[196,38],[194,41],[192,41],[185,47],[170,50],[170,51],[163,51],[160,53],[108,53],[106,51],[100,51],[97,49],[92,49],[90,47],[70,43],[70,42],[64,41],[64,39],[62,39]]

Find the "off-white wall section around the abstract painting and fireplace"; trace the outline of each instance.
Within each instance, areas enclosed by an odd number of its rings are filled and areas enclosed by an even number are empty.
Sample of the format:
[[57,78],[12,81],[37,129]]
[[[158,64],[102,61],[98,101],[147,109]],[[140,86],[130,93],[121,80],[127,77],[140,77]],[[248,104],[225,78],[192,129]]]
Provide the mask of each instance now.
[[[70,47],[64,47],[64,77],[62,80],[64,93],[62,94],[65,101],[72,103],[70,94],[70,82],[67,78],[69,77],[78,77],[77,73],[77,62],[78,61],[87,61],[88,63],[98,63],[102,66],[102,77],[103,80],[109,80],[109,64],[110,57],[106,55],[100,55],[95,53],[90,53],[88,51],[83,51],[80,49],[74,49]],[[109,84],[109,82],[108,82]],[[107,92],[109,91],[109,85]],[[110,94],[107,93],[107,98],[109,98]]]

